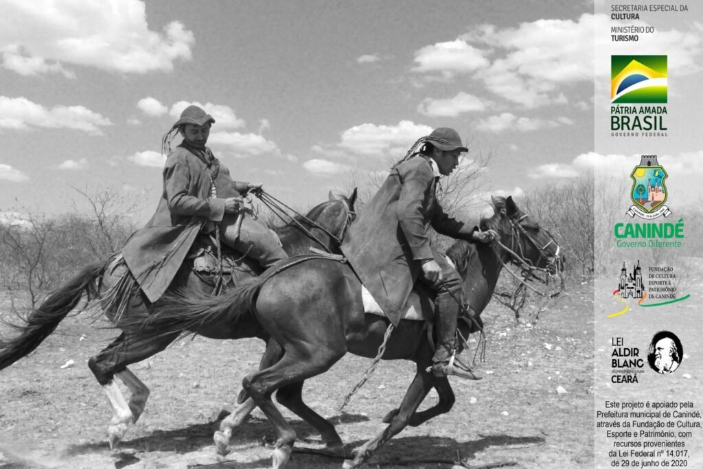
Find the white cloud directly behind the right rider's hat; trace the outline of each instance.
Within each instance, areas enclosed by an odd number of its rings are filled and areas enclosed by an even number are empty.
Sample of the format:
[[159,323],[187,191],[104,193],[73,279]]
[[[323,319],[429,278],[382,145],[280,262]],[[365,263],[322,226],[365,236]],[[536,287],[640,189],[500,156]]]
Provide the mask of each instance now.
[[420,137],[429,135],[432,127],[403,120],[398,125],[361,124],[342,132],[338,146],[361,155],[396,155],[410,148]]

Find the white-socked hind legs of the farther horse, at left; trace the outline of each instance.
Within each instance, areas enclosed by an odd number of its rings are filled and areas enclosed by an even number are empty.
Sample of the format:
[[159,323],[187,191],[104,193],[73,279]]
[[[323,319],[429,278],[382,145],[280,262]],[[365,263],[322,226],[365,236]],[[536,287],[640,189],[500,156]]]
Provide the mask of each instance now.
[[146,390],[146,395],[144,392],[138,391],[138,397],[134,401],[134,408],[138,410],[138,414],[141,414],[139,409],[138,401],[143,398],[146,403],[146,396],[148,396],[148,389],[141,381],[136,378],[136,376],[127,370],[127,365],[136,363],[143,359],[161,352],[165,349],[178,334],[167,335],[164,337],[149,338],[146,339],[135,339],[122,333],[120,337],[115,339],[108,347],[105,347],[102,352],[96,356],[91,357],[88,361],[88,366],[95,375],[96,380],[103,386],[105,395],[108,397],[110,406],[112,407],[112,420],[110,420],[110,425],[108,426],[108,442],[110,443],[110,448],[115,448],[117,444],[124,438],[124,433],[127,432],[127,426],[131,421],[135,421],[139,415],[134,416],[132,413],[131,405],[127,403],[120,391],[120,387],[115,383],[115,375],[122,375],[127,381],[125,382],[128,387],[130,383],[138,387],[143,387]]

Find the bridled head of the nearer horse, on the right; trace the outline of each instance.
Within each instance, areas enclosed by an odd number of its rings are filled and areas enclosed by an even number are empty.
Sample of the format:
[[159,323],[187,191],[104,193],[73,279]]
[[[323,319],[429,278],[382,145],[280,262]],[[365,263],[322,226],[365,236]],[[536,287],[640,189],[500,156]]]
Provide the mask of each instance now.
[[498,232],[503,262],[512,262],[531,276],[536,271],[553,275],[564,269],[563,250],[547,229],[520,210],[512,197],[491,197],[491,202],[494,216],[482,219],[481,228]]

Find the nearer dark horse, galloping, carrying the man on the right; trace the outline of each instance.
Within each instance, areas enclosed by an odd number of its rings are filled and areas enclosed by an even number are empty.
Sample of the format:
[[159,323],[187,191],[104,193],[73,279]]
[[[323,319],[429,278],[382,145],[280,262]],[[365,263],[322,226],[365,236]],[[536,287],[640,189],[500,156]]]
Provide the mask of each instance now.
[[[541,269],[547,275],[557,274],[565,260],[550,233],[524,214],[511,197],[494,198],[493,205],[493,217],[482,219],[480,226],[494,229],[498,241],[473,245],[458,240],[447,252],[463,278],[463,291],[472,299],[476,316],[491,299],[506,262],[523,268],[529,265],[532,276],[532,269]],[[221,297],[169,297],[161,305],[163,310],[155,311],[141,325],[148,338],[193,330],[204,324],[227,327],[236,323],[243,327],[254,321],[271,335],[259,371],[243,380],[243,392],[250,400],[240,406],[237,416],[232,414],[223,420],[221,431],[215,435],[219,447],[226,446],[233,426],[241,423],[254,406],[259,406],[278,435],[272,455],[273,468],[285,466],[296,435],[271,400],[271,394],[277,391],[276,400],[280,404],[316,428],[333,454],[344,456],[344,445],[334,426],[304,404],[302,388],[304,380],[324,373],[348,352],[367,358],[411,360],[416,364],[416,372],[399,409],[385,416],[387,428],[355,449],[354,460],[345,461],[344,468],[363,465],[406,425],[417,426],[449,412],[455,397],[446,376],[437,377],[427,371],[433,351],[423,321],[402,319],[396,328],[390,329],[385,317],[365,314],[361,282],[343,259],[289,260],[288,266],[266,271]],[[463,337],[472,331],[471,326],[482,324],[479,317],[475,323],[459,322]],[[432,388],[437,390],[439,402],[416,412]]]

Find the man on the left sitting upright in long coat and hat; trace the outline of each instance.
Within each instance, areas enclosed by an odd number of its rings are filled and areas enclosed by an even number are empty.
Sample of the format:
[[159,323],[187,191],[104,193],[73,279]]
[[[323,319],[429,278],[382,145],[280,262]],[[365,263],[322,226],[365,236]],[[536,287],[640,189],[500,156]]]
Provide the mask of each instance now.
[[[214,122],[205,110],[190,105],[165,134],[162,150],[168,157],[159,205],[122,248],[129,271],[150,302],[168,288],[199,233],[219,232],[221,243],[264,269],[288,257],[268,227],[243,210],[241,195],[262,185],[233,181],[229,169],[205,146]],[[171,150],[176,133],[183,141]],[[243,217],[240,223],[238,215]]]

